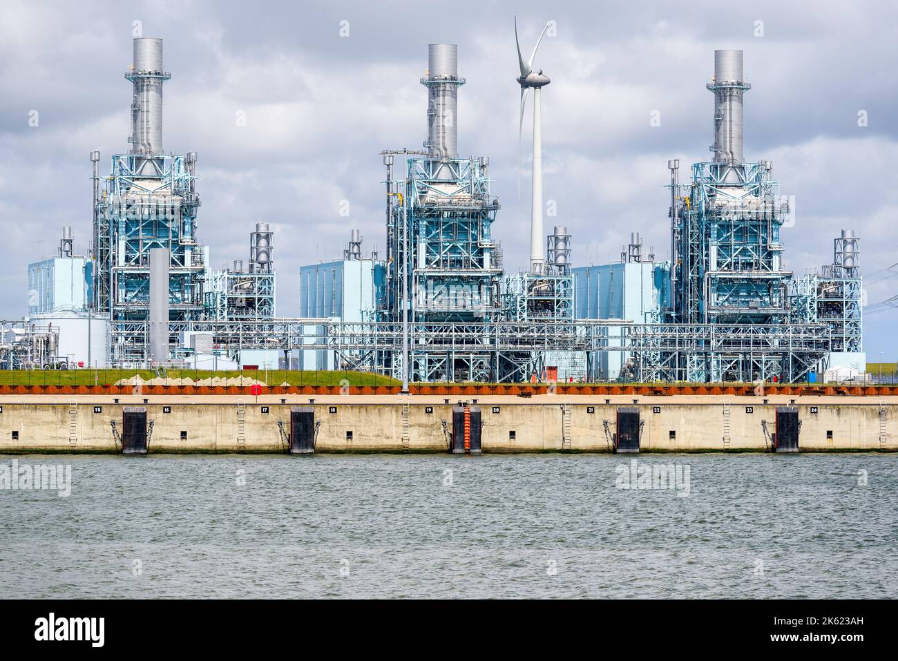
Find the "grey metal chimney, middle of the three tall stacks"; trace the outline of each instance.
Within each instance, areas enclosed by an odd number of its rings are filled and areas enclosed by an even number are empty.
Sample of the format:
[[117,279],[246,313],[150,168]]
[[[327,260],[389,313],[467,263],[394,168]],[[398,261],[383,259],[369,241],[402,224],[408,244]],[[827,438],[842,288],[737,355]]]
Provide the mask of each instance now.
[[444,163],[435,166],[435,179],[449,179],[445,162],[458,155],[458,88],[464,78],[458,77],[458,46],[430,44],[427,46],[427,77],[421,78],[427,87],[427,142],[430,158]]

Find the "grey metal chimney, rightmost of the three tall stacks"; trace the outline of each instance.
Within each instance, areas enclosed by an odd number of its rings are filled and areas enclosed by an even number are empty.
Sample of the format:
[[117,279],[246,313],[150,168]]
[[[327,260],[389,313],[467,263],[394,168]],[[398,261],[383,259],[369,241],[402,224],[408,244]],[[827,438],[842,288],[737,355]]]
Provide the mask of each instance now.
[[741,50],[714,51],[714,163],[741,165],[743,161],[743,95],[751,89],[742,73]]

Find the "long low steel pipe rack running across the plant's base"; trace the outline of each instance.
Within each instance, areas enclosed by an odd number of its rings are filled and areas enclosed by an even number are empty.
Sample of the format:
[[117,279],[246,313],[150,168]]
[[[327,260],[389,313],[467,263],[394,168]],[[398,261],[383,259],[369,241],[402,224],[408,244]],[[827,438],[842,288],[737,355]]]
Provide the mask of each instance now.
[[[113,322],[113,365],[145,362],[144,322]],[[337,322],[322,319],[275,319],[267,322],[172,322],[171,332],[212,333],[216,347],[241,349],[333,351],[335,364],[385,375],[393,374],[393,357],[401,352],[399,322]],[[623,351],[633,357],[635,381],[722,382],[754,378],[796,382],[820,368],[830,346],[825,324],[721,327],[715,324],[633,324],[628,322],[415,322],[410,325],[411,377],[418,382],[477,380],[523,381],[534,356],[551,351],[590,357]],[[747,366],[753,372],[748,373]],[[470,374],[462,374],[464,369]],[[740,371],[742,370],[742,371]],[[483,378],[471,378],[480,376]],[[586,370],[584,381],[597,381]]]

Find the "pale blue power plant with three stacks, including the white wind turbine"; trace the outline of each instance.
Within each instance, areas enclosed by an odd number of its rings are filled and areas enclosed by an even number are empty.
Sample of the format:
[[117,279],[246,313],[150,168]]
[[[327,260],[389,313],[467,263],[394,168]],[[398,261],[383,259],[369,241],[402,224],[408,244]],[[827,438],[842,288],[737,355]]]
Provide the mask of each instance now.
[[[360,370],[409,382],[800,382],[866,368],[860,244],[796,278],[792,213],[770,161],[743,155],[743,52],[718,50],[713,156],[670,181],[670,260],[633,233],[621,260],[576,266],[564,226],[542,227],[541,91],[518,42],[521,126],[533,97],[530,260],[506,269],[489,156],[458,150],[458,49],[428,47],[422,149],[384,150],[383,252],[356,229],[342,259],[302,266],[300,313],[277,317],[274,233],[250,233],[246,268],[212,269],[198,242],[197,154],[163,151],[163,42],[134,40],[130,148],[100,173],[91,250],[64,228],[29,267],[28,315],[4,322],[5,368],[173,365]],[[515,19],[515,41],[517,25]],[[550,98],[550,97],[549,97]],[[423,104],[422,104],[423,105]],[[498,225],[497,224],[498,221]],[[347,228],[350,230],[350,228]],[[521,228],[506,230],[520,231]],[[819,376],[818,376],[819,375]]]

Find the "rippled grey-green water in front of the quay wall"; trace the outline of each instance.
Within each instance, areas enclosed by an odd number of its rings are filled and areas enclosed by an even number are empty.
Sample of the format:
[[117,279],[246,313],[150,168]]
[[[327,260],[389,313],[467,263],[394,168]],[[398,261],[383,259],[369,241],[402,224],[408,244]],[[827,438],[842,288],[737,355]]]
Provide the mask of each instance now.
[[898,596],[894,455],[17,460],[73,488],[0,491],[0,597]]

